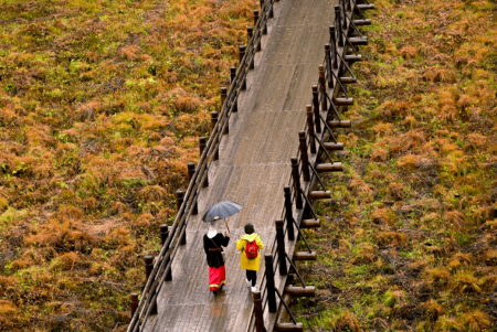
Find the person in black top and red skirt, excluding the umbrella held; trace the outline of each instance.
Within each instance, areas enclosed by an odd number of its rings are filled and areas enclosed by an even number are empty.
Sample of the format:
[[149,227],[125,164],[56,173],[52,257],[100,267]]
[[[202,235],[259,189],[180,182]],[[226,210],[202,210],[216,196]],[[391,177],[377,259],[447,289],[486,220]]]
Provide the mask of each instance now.
[[209,265],[209,289],[214,293],[222,290],[226,285],[226,269],[224,267],[224,251],[222,247],[228,246],[230,237],[228,232],[223,234],[218,233],[216,216],[209,225],[209,232],[203,236],[203,250],[207,255],[207,263]]

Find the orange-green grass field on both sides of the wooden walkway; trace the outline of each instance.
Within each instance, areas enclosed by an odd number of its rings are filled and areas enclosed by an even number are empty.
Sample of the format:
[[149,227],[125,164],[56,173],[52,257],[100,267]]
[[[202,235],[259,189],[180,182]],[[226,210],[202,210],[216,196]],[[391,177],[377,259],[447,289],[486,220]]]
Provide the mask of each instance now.
[[[284,0],[283,0],[284,1]],[[494,1],[376,0],[310,331],[494,331]],[[0,0],[0,331],[121,331],[258,1]]]

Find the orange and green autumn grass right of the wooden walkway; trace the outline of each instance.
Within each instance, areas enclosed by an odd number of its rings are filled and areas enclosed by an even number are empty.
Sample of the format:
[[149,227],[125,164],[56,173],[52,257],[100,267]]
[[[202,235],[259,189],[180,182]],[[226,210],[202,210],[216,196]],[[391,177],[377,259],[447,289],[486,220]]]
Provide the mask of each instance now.
[[309,331],[494,331],[495,2],[376,6],[294,308]]

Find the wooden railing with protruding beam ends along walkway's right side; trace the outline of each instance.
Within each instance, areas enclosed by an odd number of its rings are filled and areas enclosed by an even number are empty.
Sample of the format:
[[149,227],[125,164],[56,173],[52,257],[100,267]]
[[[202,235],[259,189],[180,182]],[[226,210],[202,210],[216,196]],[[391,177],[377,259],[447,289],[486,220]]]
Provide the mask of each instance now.
[[[268,258],[266,263],[271,263],[271,265],[266,265],[264,270],[261,282],[262,292],[254,293],[254,309],[252,311],[251,322],[247,324],[247,332],[254,330],[257,332],[265,331],[263,313],[266,309],[269,313],[274,313],[273,320],[269,319],[269,323],[275,324],[276,330],[298,331],[302,329],[302,324],[297,324],[288,311],[287,304],[281,297],[285,282],[275,286],[273,280],[276,271],[283,277],[283,281],[286,280],[286,276],[288,275],[286,263],[292,264],[290,256],[287,253],[292,251],[289,250],[290,248],[286,250],[285,247],[287,245],[285,245],[285,240],[286,244],[293,244],[295,248],[295,239],[297,238],[295,233],[298,233],[305,242],[307,250],[311,253],[299,227],[305,206],[317,218],[309,199],[313,188],[319,183],[326,192],[325,183],[316,170],[319,160],[327,159],[331,165],[328,165],[330,170],[337,171],[341,169],[341,164],[334,162],[327,150],[328,148],[329,150],[342,148],[342,144],[337,142],[332,128],[350,127],[350,121],[343,121],[341,119],[342,113],[352,103],[347,93],[347,84],[357,82],[348,62],[355,62],[361,58],[358,54],[357,45],[367,44],[367,39],[362,38],[357,25],[371,24],[371,20],[366,19],[362,10],[374,8],[368,0],[364,1],[366,3],[361,2],[359,4],[356,0],[339,0],[339,4],[335,8],[335,25],[330,26],[329,43],[325,45],[322,65],[318,67],[319,78],[317,84],[313,86],[310,107],[307,106],[307,124],[303,126],[303,131],[299,132],[300,146],[296,152],[296,158],[290,159],[293,173],[288,179],[287,186],[284,189],[286,191],[285,204],[283,204],[279,221],[275,225],[277,235],[271,246],[268,246],[268,254],[266,254],[266,258]],[[357,17],[361,19],[357,20]],[[352,34],[358,34],[358,36],[351,36]],[[347,55],[349,51],[352,51],[355,54]],[[351,76],[342,76],[343,74]],[[330,128],[328,122],[332,124],[332,128]],[[327,141],[331,141],[331,144]],[[309,158],[309,150],[311,158]],[[321,197],[325,196],[326,194],[321,194]],[[282,267],[282,265],[284,266]],[[273,280],[268,282],[268,279]],[[298,279],[303,283],[303,288],[306,288],[300,276],[298,276]],[[278,326],[276,324],[276,294],[279,297],[281,306],[288,311],[293,320],[290,325],[282,323]]]

